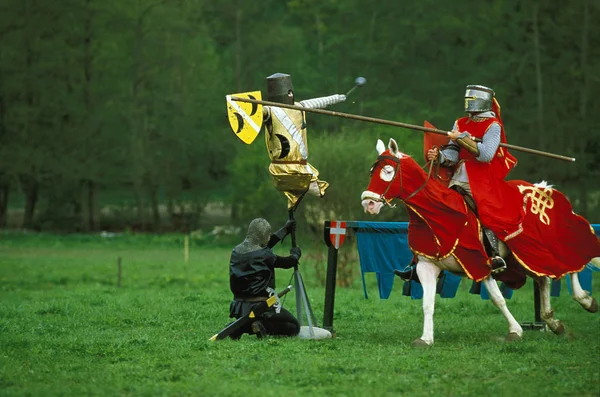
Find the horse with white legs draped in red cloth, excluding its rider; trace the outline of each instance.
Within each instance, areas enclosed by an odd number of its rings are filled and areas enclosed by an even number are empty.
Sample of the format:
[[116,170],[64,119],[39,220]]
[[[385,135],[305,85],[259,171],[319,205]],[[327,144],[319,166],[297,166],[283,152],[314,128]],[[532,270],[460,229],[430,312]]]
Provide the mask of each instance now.
[[[520,339],[523,329],[508,311],[491,277],[481,223],[462,196],[429,178],[412,157],[400,152],[395,140],[390,139],[387,150],[378,140],[376,149],[379,156],[371,169],[369,186],[362,193],[362,205],[365,212],[378,214],[385,203],[400,199],[407,208],[408,243],[417,257],[416,271],[423,286],[423,334],[414,343],[434,342],[435,290],[442,270],[482,281],[509,324],[508,339]],[[589,222],[573,213],[568,199],[559,191],[525,181],[509,181],[509,187],[520,194],[520,202],[512,204],[522,206],[525,217],[519,233],[505,236],[499,244],[507,269],[495,277],[511,288],[522,286],[527,275],[534,278],[540,287],[542,319],[560,334],[564,325],[554,318],[550,306],[550,279],[571,274],[573,299],[584,309],[596,312],[598,304],[581,288],[577,272],[590,261],[600,264],[600,240]],[[509,211],[510,204],[507,202],[502,210]],[[568,233],[562,233],[565,230]]]

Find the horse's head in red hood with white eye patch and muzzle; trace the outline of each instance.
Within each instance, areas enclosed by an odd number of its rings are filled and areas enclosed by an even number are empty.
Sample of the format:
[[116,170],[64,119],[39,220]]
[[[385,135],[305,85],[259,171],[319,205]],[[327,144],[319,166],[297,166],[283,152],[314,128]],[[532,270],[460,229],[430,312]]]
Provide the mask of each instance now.
[[394,184],[394,179],[400,171],[400,160],[403,154],[398,150],[398,144],[390,138],[388,148],[381,139],[377,140],[377,161],[371,167],[369,187],[361,195],[365,212],[376,215],[384,203],[389,204],[392,198],[400,195],[400,186]]

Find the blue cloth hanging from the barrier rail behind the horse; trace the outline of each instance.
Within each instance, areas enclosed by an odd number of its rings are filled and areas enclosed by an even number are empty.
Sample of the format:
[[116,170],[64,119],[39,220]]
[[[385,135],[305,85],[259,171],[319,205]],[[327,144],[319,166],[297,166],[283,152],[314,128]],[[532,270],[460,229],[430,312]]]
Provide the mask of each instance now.
[[[358,255],[360,258],[360,269],[363,282],[365,298],[368,299],[367,287],[365,284],[365,273],[375,273],[377,277],[377,286],[379,297],[387,299],[394,286],[394,269],[404,270],[413,258],[413,254],[408,248],[408,222],[366,222],[357,221],[355,230],[358,242]],[[596,234],[600,234],[600,224],[593,224],[592,227]],[[589,264],[586,269],[579,273],[579,280],[583,289],[592,292],[592,271],[600,270]],[[571,293],[570,276],[567,279],[569,293]],[[461,278],[452,273],[443,272],[438,281],[437,292],[443,298],[452,298],[456,295]],[[560,295],[561,280],[555,280],[552,284],[552,296]],[[510,299],[513,290],[500,285],[500,289],[505,298]],[[419,283],[411,281],[404,285],[405,295],[410,295],[412,299],[421,299],[423,289]],[[489,299],[487,290],[481,285],[481,298]]]

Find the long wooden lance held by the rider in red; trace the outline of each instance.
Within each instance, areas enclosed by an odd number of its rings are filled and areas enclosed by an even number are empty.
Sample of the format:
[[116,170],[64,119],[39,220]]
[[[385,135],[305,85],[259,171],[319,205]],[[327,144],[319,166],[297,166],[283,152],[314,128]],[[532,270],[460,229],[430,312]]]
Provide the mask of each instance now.
[[[359,115],[356,115],[356,114],[342,113],[342,112],[336,112],[336,111],[332,111],[332,110],[311,109],[311,108],[305,108],[305,107],[302,107],[302,106],[288,105],[287,103],[278,103],[278,102],[270,102],[270,101],[259,101],[257,99],[240,98],[240,97],[236,97],[236,96],[231,96],[231,100],[238,101],[238,102],[253,103],[253,104],[257,104],[257,105],[264,105],[264,106],[273,106],[273,107],[294,109],[294,110],[300,110],[300,111],[309,112],[309,113],[325,114],[325,115],[328,115],[328,116],[343,117],[343,118],[352,119],[352,120],[366,121],[366,122],[369,122],[369,123],[391,125],[391,126],[394,126],[394,127],[407,128],[407,129],[411,129],[411,130],[419,130],[419,131],[423,131],[423,132],[431,132],[431,133],[439,134],[439,135],[446,135],[446,136],[448,136],[448,134],[450,134],[450,131],[438,130],[437,128],[422,127],[420,125],[401,123],[399,121],[378,119],[378,118],[367,117],[367,116],[359,116]],[[481,142],[481,139],[480,138],[474,138],[474,141],[475,142]],[[502,143],[501,142],[500,146],[501,147],[505,147],[507,149],[517,150],[517,151],[525,152],[525,153],[536,154],[538,156],[549,157],[549,158],[553,158],[553,159],[557,159],[557,160],[570,161],[570,162],[575,161],[574,157],[562,156],[560,154],[544,152],[544,151],[541,151],[541,150],[530,149],[530,148],[526,148],[526,147],[522,147],[522,146],[517,146],[517,145],[511,145],[511,144],[508,144],[508,143]]]

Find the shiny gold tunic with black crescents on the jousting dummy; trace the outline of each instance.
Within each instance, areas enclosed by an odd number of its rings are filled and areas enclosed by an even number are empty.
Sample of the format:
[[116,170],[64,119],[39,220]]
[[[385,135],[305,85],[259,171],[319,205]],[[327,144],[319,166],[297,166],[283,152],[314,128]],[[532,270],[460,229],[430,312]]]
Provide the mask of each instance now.
[[[296,106],[301,106],[295,103]],[[275,188],[285,194],[288,209],[296,206],[312,182],[319,195],[325,194],[329,183],[319,180],[319,171],[308,163],[308,144],[304,114],[299,110],[269,107],[270,122],[266,123],[265,141],[271,158],[269,173]]]

